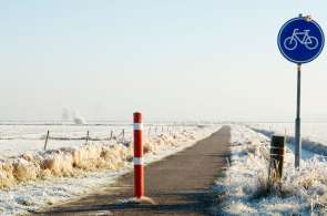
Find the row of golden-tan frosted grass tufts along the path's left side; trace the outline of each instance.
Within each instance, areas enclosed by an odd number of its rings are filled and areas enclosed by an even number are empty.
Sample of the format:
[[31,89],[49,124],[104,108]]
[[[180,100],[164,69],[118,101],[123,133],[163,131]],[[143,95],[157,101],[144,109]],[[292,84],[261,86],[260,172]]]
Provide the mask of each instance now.
[[[193,132],[172,135],[161,134],[144,140],[144,153],[155,154],[162,147],[177,146],[194,140]],[[0,188],[19,183],[50,178],[72,177],[88,171],[122,169],[131,164],[133,146],[120,143],[89,143],[80,147],[62,147],[34,154],[25,153],[17,158],[0,162]]]

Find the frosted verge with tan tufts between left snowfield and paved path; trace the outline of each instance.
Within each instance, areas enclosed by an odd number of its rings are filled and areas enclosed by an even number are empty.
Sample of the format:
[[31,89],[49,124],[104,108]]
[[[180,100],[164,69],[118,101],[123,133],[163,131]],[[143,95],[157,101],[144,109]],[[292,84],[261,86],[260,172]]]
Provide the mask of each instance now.
[[[219,125],[187,126],[151,132],[145,127],[145,162],[182,151],[218,128]],[[132,150],[127,135],[124,142],[83,142],[2,160],[0,215],[27,214],[101,189],[102,185],[132,169]]]

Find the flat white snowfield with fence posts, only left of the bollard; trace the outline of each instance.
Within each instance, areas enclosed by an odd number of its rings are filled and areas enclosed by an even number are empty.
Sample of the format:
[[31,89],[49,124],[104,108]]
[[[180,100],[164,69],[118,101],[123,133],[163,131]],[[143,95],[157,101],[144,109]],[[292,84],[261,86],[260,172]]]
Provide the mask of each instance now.
[[[127,130],[130,128],[130,130]],[[0,158],[17,156],[27,152],[42,151],[50,132],[48,150],[80,146],[89,131],[93,140],[109,140],[111,131],[117,136],[122,130],[131,136],[132,130],[127,124],[121,125],[0,125]]]

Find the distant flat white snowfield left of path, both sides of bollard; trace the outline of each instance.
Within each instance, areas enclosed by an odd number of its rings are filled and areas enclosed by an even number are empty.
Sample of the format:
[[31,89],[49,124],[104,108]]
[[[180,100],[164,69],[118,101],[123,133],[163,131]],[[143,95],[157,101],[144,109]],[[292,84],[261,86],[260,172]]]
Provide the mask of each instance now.
[[[182,132],[192,130],[194,124],[146,124],[144,135],[154,136],[161,133]],[[92,125],[51,125],[51,124],[12,124],[0,125],[0,160],[13,157],[23,153],[34,153],[43,150],[47,131],[50,131],[50,140],[47,150],[60,147],[79,147],[85,143],[89,131],[90,141],[124,140],[132,138],[131,123],[120,124],[92,124]]]

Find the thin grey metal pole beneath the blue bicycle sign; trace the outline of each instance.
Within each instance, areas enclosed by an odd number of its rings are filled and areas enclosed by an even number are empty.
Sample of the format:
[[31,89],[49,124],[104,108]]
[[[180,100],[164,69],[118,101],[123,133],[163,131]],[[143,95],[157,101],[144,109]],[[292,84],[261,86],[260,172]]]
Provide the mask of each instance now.
[[296,101],[296,120],[295,120],[295,167],[299,168],[302,155],[300,140],[300,69],[302,64],[297,64],[297,101]]

